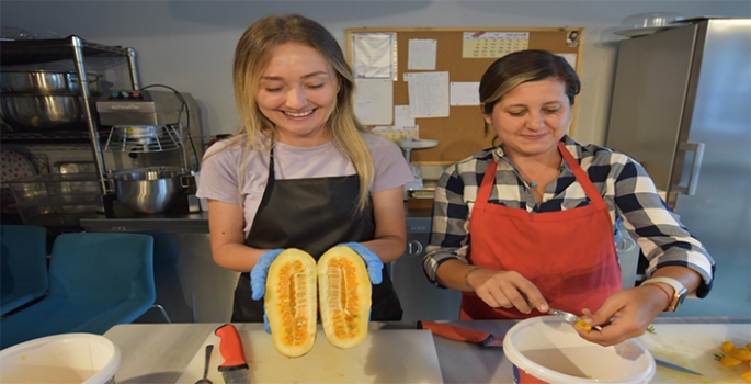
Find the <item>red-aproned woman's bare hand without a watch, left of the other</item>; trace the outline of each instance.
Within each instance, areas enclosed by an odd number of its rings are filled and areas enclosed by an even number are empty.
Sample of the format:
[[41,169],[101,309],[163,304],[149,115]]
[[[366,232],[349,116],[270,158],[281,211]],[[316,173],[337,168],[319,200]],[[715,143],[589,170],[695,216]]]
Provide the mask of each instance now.
[[515,307],[523,314],[531,313],[533,307],[541,312],[548,309],[547,302],[537,286],[516,271],[496,271],[475,267],[467,271],[465,283],[493,308]]

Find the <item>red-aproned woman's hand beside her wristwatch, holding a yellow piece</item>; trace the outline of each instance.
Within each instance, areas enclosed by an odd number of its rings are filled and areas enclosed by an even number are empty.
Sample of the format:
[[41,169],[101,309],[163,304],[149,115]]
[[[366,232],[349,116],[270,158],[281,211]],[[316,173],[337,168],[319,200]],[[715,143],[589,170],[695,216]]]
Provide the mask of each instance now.
[[669,297],[659,291],[657,286],[645,285],[616,292],[595,313],[583,310],[582,319],[602,329],[573,328],[582,338],[605,347],[641,336],[668,306]]

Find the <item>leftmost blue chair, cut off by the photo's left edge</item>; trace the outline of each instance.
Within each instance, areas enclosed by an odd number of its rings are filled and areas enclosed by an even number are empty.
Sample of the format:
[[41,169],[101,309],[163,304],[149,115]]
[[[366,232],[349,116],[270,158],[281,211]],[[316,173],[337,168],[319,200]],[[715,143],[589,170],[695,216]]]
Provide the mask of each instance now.
[[0,316],[47,293],[47,229],[0,226]]

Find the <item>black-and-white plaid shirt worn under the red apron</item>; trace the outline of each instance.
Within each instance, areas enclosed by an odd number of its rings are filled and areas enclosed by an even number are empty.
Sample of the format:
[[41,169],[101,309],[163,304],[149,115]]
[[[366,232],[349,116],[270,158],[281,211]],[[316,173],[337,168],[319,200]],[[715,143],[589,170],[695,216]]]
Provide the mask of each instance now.
[[[615,231],[614,241],[617,244],[621,239],[619,226],[623,223],[649,260],[648,275],[665,266],[689,267],[703,278],[696,295],[706,296],[712,287],[715,261],[659,196],[641,165],[610,148],[582,146],[568,136],[564,136],[562,142],[605,200]],[[435,270],[442,262],[450,259],[467,262],[471,236],[469,216],[485,170],[493,159],[498,161],[498,170],[490,203],[530,213],[557,212],[590,204],[566,161],[560,166],[558,179],[546,187],[539,204],[500,146],[481,150],[448,167],[435,187],[433,228],[423,260],[425,273],[435,285],[440,286],[435,281]]]

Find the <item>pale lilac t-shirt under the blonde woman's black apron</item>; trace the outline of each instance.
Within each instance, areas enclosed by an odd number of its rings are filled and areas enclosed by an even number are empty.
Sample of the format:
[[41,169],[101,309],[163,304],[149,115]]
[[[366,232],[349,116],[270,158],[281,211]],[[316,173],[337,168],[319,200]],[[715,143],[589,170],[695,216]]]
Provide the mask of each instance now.
[[[414,179],[399,146],[378,135],[361,135],[375,166],[371,193],[401,187]],[[218,142],[206,150],[196,195],[242,204],[246,219],[243,231],[248,235],[266,188],[270,156],[246,150],[242,140],[236,142],[236,145],[230,145],[230,142],[235,140]],[[340,177],[356,172],[350,159],[332,142],[317,147],[294,147],[277,142],[274,147],[274,173],[276,179],[284,180]]]

